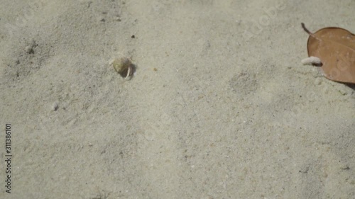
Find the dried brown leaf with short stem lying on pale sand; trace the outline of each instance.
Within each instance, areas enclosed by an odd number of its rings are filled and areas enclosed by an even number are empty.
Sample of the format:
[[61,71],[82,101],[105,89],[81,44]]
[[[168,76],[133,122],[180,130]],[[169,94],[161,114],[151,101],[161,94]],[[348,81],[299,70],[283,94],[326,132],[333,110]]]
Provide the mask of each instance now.
[[305,24],[302,28],[310,35],[308,56],[322,61],[324,76],[333,81],[355,84],[355,35],[342,28],[322,28],[311,33]]

